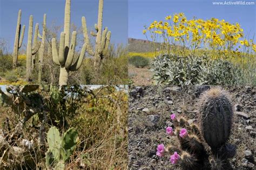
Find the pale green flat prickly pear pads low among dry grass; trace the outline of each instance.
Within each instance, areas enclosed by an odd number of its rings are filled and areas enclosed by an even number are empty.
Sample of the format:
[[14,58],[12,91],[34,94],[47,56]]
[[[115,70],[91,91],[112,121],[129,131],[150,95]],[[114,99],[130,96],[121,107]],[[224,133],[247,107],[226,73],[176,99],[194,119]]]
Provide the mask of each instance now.
[[69,160],[78,142],[78,133],[74,128],[66,131],[63,137],[59,130],[53,126],[47,134],[49,149],[46,152],[45,160],[48,167],[65,169],[65,162]]

